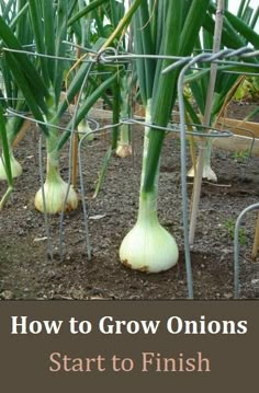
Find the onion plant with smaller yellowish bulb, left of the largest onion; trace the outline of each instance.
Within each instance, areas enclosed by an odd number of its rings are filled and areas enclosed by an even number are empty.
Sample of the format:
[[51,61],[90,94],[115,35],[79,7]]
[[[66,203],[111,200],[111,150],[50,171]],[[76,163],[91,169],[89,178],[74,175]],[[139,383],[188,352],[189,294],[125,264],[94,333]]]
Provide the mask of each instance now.
[[[116,73],[110,76],[94,92],[87,97],[77,114],[67,126],[67,131],[59,132],[60,118],[78,92],[81,89],[86,74],[92,67],[92,61],[80,62],[78,69],[70,72],[69,86],[66,100],[60,101],[64,86],[64,73],[70,68],[66,60],[68,26],[72,27],[71,19],[76,22],[79,13],[74,14],[76,2],[58,0],[53,2],[45,0],[29,0],[27,12],[33,32],[33,43],[36,47],[36,58],[24,53],[19,38],[12,28],[0,16],[0,38],[3,43],[3,57],[7,67],[12,72],[12,78],[21,90],[26,104],[40,124],[46,138],[47,167],[46,181],[35,196],[35,207],[40,211],[56,213],[63,210],[69,211],[78,205],[78,198],[72,186],[68,185],[59,173],[59,154],[64,145],[70,137],[71,127],[77,126],[88,113],[93,103],[102,95],[108,86],[116,78]],[[102,1],[103,3],[103,1]],[[83,8],[80,16],[100,5],[95,0],[91,8]],[[74,23],[75,23],[74,22]],[[98,50],[101,43],[95,44],[93,50]],[[70,49],[70,47],[69,47]],[[71,79],[72,77],[72,79]],[[66,206],[64,203],[66,200]]]

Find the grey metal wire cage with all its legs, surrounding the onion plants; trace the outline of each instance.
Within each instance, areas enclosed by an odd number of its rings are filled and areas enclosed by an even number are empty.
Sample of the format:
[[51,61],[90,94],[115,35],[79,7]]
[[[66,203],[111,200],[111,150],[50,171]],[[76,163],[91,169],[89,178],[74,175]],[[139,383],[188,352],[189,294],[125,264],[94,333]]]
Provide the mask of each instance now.
[[[8,48],[3,48],[3,50],[11,50]],[[87,48],[83,48],[85,53],[87,53]],[[26,51],[24,50],[24,53],[27,53],[30,56],[43,56],[41,54],[37,54],[35,51]],[[89,77],[91,76],[91,72],[95,72],[94,71],[94,67],[98,65],[133,65],[134,61],[137,58],[140,57],[145,57],[145,59],[148,58],[156,58],[156,59],[168,59],[171,61],[171,65],[169,67],[167,67],[166,69],[161,70],[161,73],[165,74],[167,72],[171,72],[174,69],[179,70],[179,76],[178,76],[178,103],[179,103],[179,123],[171,123],[169,124],[167,127],[158,127],[155,124],[147,124],[145,120],[136,118],[134,115],[132,116],[132,118],[123,118],[120,120],[119,124],[109,124],[106,126],[101,126],[98,122],[95,122],[94,119],[92,119],[91,117],[89,117],[89,122],[91,122],[92,124],[92,130],[91,134],[92,135],[101,135],[104,131],[110,132],[111,129],[115,126],[120,126],[122,124],[138,124],[142,126],[148,126],[148,127],[153,127],[156,129],[159,129],[161,132],[176,132],[180,136],[180,151],[181,151],[181,195],[182,195],[182,223],[183,223],[183,240],[184,240],[184,256],[185,256],[185,268],[187,268],[187,282],[188,282],[188,298],[189,299],[193,299],[194,298],[194,293],[193,293],[193,277],[192,277],[192,263],[191,263],[191,244],[190,244],[190,239],[189,239],[189,234],[190,234],[190,222],[189,222],[189,201],[188,201],[188,186],[187,186],[187,136],[190,134],[189,132],[189,124],[187,124],[185,122],[185,105],[184,105],[184,96],[183,96],[183,90],[184,90],[184,79],[185,76],[188,74],[188,72],[191,69],[195,69],[196,67],[199,67],[199,63],[203,62],[203,63],[216,63],[216,65],[221,65],[221,66],[240,66],[240,65],[245,65],[246,67],[252,67],[258,68],[258,73],[259,73],[259,65],[256,63],[251,63],[249,62],[249,59],[257,57],[259,55],[258,50],[254,50],[249,47],[243,47],[239,49],[224,49],[224,50],[219,50],[216,54],[212,54],[212,53],[200,53],[196,56],[190,56],[190,57],[183,57],[183,58],[179,58],[179,57],[171,57],[171,56],[140,56],[140,55],[134,55],[134,54],[120,54],[117,53],[114,48],[106,48],[103,51],[100,53],[94,53],[92,54],[91,51],[91,58],[90,60],[82,58],[81,61],[90,61],[91,62],[91,67],[89,67],[89,71],[86,73],[85,79],[83,79],[83,83],[81,85],[79,95],[78,95],[78,101],[77,104],[75,105],[74,108],[74,113],[72,113],[72,119],[74,122],[71,123],[71,128],[69,129],[70,131],[70,143],[69,143],[69,172],[68,172],[68,184],[70,184],[71,181],[71,160],[72,160],[72,136],[75,135],[75,132],[77,132],[76,127],[75,127],[75,119],[77,116],[77,113],[79,111],[79,102],[80,102],[80,97],[83,93],[83,90],[88,83]],[[46,55],[44,55],[46,56]],[[72,57],[69,56],[69,58],[66,57],[66,60],[70,60],[70,61],[78,61],[78,59],[74,59]],[[64,58],[60,58],[60,60],[64,60]],[[251,74],[255,74],[251,72]],[[0,76],[1,78],[1,76]],[[1,82],[1,80],[0,80]],[[32,116],[30,114],[24,114],[24,113],[20,113],[20,112],[14,112],[11,108],[7,108],[5,111],[5,116],[20,116],[23,118],[29,118],[32,122],[35,122]],[[36,123],[36,122],[35,122]],[[46,123],[46,125],[48,125]],[[53,127],[53,125],[50,125]],[[233,134],[230,130],[226,129],[226,130],[221,130],[217,128],[213,128],[210,125],[195,125],[192,124],[191,125],[194,130],[191,132],[192,136],[200,138],[200,140],[202,140],[203,138],[228,138],[230,137]],[[60,127],[57,126],[58,129],[60,130],[60,132],[63,131],[68,131],[68,129],[66,127]],[[82,200],[82,210],[83,210],[83,222],[85,222],[85,240],[86,240],[86,247],[87,247],[87,255],[88,255],[88,259],[91,259],[91,244],[90,244],[90,236],[89,236],[89,213],[88,213],[88,205],[87,205],[87,200],[86,200],[86,189],[85,189],[85,185],[83,185],[83,167],[82,167],[82,160],[81,160],[81,155],[82,155],[82,150],[85,148],[87,148],[88,142],[87,142],[87,136],[83,136],[78,145],[78,157],[79,157],[79,180],[80,180],[80,193],[81,193],[81,200]],[[252,142],[251,142],[251,149],[250,149],[250,153],[252,150],[252,146],[255,142],[255,137],[252,137]],[[249,154],[250,154],[249,153]],[[42,138],[40,138],[40,143],[38,143],[38,166],[40,166],[40,175],[41,175],[41,183],[42,183],[42,189],[43,189],[43,200],[45,201],[45,196],[44,196],[44,175],[43,175],[43,154],[42,154]],[[68,189],[69,190],[69,189]],[[66,199],[68,196],[68,190],[67,190],[67,195],[66,195]],[[64,206],[66,204],[66,199],[64,201]],[[239,231],[239,227],[240,227],[240,221],[244,217],[245,213],[247,213],[248,211],[252,210],[252,209],[257,209],[259,208],[259,204],[249,206],[248,208],[246,208],[240,216],[237,219],[236,222],[236,229],[235,229],[235,240],[234,240],[234,250],[235,250],[235,261],[234,261],[234,270],[235,270],[235,297],[238,298],[239,297],[239,292],[240,292],[240,282],[239,282],[239,242],[238,242],[238,231]],[[46,206],[44,203],[44,222],[45,222],[45,231],[46,231],[46,236],[47,236],[47,253],[50,257],[53,257],[53,244],[52,244],[52,235],[50,235],[50,228],[49,228],[49,223],[48,223],[48,215],[46,212]],[[60,259],[63,259],[64,257],[64,210],[60,213],[60,218],[59,218],[59,256]]]

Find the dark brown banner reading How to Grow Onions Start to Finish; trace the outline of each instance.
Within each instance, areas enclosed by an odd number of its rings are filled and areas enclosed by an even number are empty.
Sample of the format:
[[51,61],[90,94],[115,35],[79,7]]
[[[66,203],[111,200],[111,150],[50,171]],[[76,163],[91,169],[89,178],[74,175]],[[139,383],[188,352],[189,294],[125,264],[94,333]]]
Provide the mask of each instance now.
[[1,385],[10,393],[250,391],[258,335],[257,301],[5,301]]

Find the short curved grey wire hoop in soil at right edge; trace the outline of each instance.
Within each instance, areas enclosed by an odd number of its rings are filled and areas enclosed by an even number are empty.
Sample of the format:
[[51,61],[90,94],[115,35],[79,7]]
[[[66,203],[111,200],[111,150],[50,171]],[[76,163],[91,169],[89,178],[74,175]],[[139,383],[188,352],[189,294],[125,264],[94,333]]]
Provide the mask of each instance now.
[[238,299],[240,297],[240,264],[239,264],[239,230],[240,224],[244,216],[246,216],[247,212],[259,209],[259,203],[248,206],[246,209],[244,209],[240,215],[238,216],[236,220],[235,226],[235,239],[234,239],[234,290],[235,290],[235,299]]

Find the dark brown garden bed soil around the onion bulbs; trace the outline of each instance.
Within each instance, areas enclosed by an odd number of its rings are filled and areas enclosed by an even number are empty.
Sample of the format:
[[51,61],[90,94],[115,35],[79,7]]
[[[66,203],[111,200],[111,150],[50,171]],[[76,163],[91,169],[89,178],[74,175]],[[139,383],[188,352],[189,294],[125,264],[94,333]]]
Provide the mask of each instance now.
[[[123,236],[136,220],[142,162],[142,130],[134,130],[134,157],[112,158],[104,186],[92,199],[109,136],[83,149],[82,165],[89,208],[92,258],[88,261],[82,205],[66,215],[64,259],[59,258],[59,217],[49,218],[54,259],[47,256],[43,215],[33,198],[40,187],[37,143],[29,132],[16,150],[23,175],[0,216],[1,299],[185,299],[187,276],[183,252],[179,140],[167,137],[164,148],[159,219],[180,248],[177,267],[146,275],[124,267],[119,259]],[[196,236],[192,250],[195,299],[234,297],[235,221],[243,209],[259,197],[259,158],[246,160],[214,150],[213,167],[218,183],[203,184]],[[61,173],[68,176],[67,152]],[[190,163],[189,163],[190,165]],[[0,184],[0,195],[5,185]],[[189,185],[189,196],[191,185]],[[250,258],[256,212],[247,215],[240,233],[240,285],[243,298],[258,298],[259,267]]]

